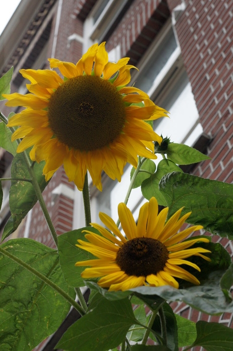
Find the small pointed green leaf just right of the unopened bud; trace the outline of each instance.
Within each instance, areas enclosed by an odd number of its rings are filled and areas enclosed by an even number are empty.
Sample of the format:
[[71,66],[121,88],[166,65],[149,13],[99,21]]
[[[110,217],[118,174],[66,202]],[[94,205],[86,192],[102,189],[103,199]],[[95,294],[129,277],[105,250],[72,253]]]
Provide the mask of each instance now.
[[177,164],[191,164],[210,159],[210,157],[193,147],[184,144],[176,144],[174,142],[169,143],[164,152],[167,154],[168,159]]

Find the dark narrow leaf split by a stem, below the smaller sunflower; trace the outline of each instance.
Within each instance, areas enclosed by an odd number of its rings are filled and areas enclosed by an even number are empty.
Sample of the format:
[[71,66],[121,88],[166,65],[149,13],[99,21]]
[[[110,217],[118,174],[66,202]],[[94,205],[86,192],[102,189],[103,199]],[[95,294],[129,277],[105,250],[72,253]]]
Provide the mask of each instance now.
[[[166,326],[166,344],[171,351],[178,351],[178,333],[174,312],[166,302],[160,308],[163,310],[164,322]],[[160,318],[158,314],[154,319],[151,329],[162,337]]]

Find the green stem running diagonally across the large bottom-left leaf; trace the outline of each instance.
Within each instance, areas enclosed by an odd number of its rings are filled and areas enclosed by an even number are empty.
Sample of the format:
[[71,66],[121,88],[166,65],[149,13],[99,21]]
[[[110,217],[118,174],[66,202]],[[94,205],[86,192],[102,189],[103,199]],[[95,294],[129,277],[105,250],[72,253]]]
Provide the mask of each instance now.
[[40,280],[42,280],[45,284],[47,284],[52,289],[54,289],[56,292],[58,292],[58,294],[60,294],[67,302],[69,302],[78,311],[78,313],[80,313],[80,315],[85,314],[85,311],[83,310],[83,308],[81,308],[81,306],[79,306],[79,304],[75,300],[73,300],[64,290],[62,290],[59,286],[57,286],[55,283],[53,283],[48,278],[46,278],[43,274],[37,272],[30,265],[23,262],[18,257],[12,255],[7,250],[2,249],[1,247],[0,247],[0,253],[2,253],[4,256],[8,257],[12,261],[16,262],[17,264],[19,264],[21,267],[25,268],[26,270],[28,270],[32,274],[34,274],[36,277],[38,277]]

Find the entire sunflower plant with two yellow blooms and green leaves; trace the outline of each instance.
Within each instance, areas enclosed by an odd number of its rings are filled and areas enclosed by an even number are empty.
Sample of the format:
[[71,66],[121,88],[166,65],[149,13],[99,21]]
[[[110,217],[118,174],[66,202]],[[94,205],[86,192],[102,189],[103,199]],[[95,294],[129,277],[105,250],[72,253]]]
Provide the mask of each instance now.
[[[233,348],[232,329],[172,309],[182,301],[209,315],[233,312],[230,255],[211,242],[233,238],[232,185],[182,172],[180,165],[208,157],[153,131],[152,121],[168,112],[129,85],[136,67],[128,61],[108,62],[101,43],[76,64],[53,58],[50,70],[20,70],[28,94],[10,94],[12,68],[0,78],[0,99],[23,108],[0,113],[0,147],[13,156],[10,178],[0,179],[0,206],[1,184],[11,182],[0,245],[2,350],[34,349],[70,308],[78,317],[56,349]],[[102,173],[120,182],[126,163],[130,185],[118,221],[99,213],[102,225],[92,222],[87,174],[102,191]],[[86,226],[57,236],[42,192],[60,166],[82,192]],[[138,187],[144,202],[134,218],[127,201]],[[56,249],[9,237],[37,201]]]

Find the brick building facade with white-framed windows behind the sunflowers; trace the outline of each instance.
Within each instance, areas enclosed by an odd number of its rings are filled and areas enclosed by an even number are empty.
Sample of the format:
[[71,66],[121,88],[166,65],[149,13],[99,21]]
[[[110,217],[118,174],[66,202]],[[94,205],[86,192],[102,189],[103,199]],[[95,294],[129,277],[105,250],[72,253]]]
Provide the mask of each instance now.
[[[109,61],[129,57],[129,64],[139,69],[131,70],[131,83],[170,112],[170,119],[154,124],[155,131],[211,157],[185,171],[232,183],[232,17],[231,0],[39,0],[36,5],[21,0],[0,38],[0,72],[14,66],[11,92],[24,93],[19,69],[49,68],[49,57],[76,63],[91,44],[104,41]],[[12,111],[3,102],[0,109],[5,115]],[[10,154],[0,150],[0,177],[9,174],[10,162]],[[130,168],[125,168],[120,184],[103,175],[102,193],[90,184],[93,222],[98,221],[99,211],[117,219]],[[9,216],[8,189],[5,183],[1,232]],[[82,195],[67,181],[62,167],[43,197],[57,234],[84,226]],[[140,190],[134,189],[128,206],[135,218],[143,201]],[[52,246],[38,204],[11,237],[29,237]],[[232,253],[230,241],[216,236],[214,240]],[[193,321],[232,325],[231,314],[206,316],[183,303],[173,308]],[[37,350],[51,349],[47,342]]]

